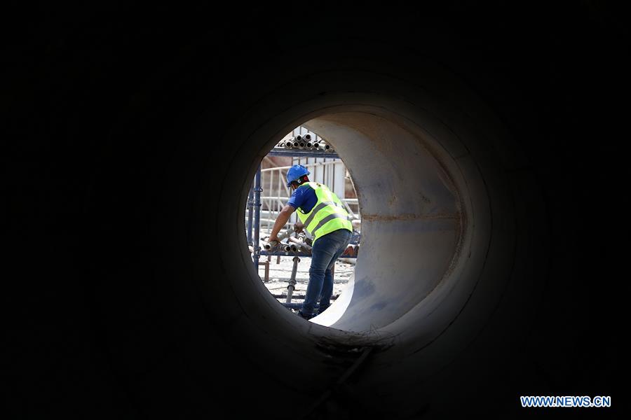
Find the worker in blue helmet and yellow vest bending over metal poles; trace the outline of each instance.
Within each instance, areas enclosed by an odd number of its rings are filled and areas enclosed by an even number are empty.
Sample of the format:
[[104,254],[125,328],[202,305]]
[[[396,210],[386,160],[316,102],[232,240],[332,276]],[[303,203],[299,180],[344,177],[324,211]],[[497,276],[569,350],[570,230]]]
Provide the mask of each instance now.
[[312,237],[309,283],[299,316],[309,319],[315,316],[315,304],[320,301],[321,314],[330,306],[333,293],[333,266],[351,241],[353,225],[337,195],[322,183],[311,182],[310,172],[302,165],[294,165],[287,171],[287,188],[292,196],[280,211],[269,236],[269,243],[279,243],[278,232],[297,211],[299,222],[295,232],[305,229]]

